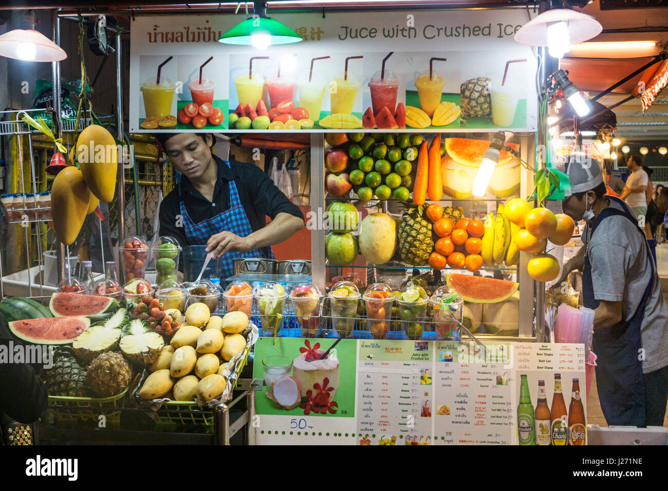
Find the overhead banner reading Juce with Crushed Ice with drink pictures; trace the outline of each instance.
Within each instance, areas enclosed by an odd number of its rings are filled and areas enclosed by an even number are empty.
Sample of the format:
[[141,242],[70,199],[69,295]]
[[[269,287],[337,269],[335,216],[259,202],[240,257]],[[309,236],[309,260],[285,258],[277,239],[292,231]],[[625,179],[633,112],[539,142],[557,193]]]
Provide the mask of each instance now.
[[273,16],[303,42],[218,42],[242,15],[136,17],[130,131],[535,131],[521,9]]

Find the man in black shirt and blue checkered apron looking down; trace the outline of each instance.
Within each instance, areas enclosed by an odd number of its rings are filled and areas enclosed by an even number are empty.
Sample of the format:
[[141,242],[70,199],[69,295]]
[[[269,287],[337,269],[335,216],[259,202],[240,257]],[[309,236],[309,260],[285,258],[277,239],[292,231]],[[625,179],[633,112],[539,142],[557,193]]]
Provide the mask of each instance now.
[[261,168],[212,154],[212,134],[156,136],[181,174],[179,184],[160,204],[160,235],[214,251],[214,259],[222,262],[222,281],[232,276],[234,259],[274,259],[271,246],[303,228],[299,207]]

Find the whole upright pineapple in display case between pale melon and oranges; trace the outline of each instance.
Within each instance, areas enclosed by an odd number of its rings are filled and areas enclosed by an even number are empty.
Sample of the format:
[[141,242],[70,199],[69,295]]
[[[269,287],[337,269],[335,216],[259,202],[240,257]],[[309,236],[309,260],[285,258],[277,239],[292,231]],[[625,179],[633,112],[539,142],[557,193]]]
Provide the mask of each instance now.
[[399,224],[399,254],[403,262],[413,266],[426,265],[434,249],[432,224],[423,213],[424,206],[409,206]]

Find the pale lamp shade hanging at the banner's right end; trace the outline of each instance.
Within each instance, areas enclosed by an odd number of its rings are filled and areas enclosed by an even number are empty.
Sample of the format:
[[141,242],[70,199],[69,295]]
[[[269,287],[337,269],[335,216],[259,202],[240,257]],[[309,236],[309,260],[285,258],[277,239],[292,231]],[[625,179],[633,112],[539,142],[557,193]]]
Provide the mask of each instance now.
[[515,41],[530,46],[547,46],[547,26],[553,22],[568,22],[570,43],[582,43],[596,37],[603,31],[603,26],[591,15],[571,9],[552,9],[541,13],[524,24],[515,33]]

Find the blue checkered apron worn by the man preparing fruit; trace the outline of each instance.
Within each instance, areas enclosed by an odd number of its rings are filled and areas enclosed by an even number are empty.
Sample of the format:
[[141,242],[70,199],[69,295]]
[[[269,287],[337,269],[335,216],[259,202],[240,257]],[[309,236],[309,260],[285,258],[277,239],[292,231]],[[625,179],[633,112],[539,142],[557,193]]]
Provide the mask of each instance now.
[[[228,167],[231,168],[230,162],[227,160],[224,161]],[[251,228],[251,223],[248,222],[248,216],[246,216],[246,211],[241,206],[241,200],[239,199],[239,193],[236,189],[236,184],[234,180],[230,180],[230,208],[224,212],[220,212],[212,218],[207,220],[202,220],[201,222],[195,223],[188,215],[188,210],[186,210],[186,205],[183,202],[183,188],[180,184],[180,208],[181,216],[183,218],[183,226],[186,230],[186,237],[188,237],[188,244],[190,245],[206,245],[206,242],[209,240],[210,236],[214,234],[219,234],[225,230],[232,232],[240,237],[245,237],[250,235],[253,232]],[[234,252],[234,253],[225,253],[220,258],[220,279],[225,281],[226,278],[232,276],[234,272],[234,259],[241,259],[243,257],[267,257],[267,254],[263,249],[251,249],[247,253]],[[269,258],[275,259],[274,253],[269,247]]]

